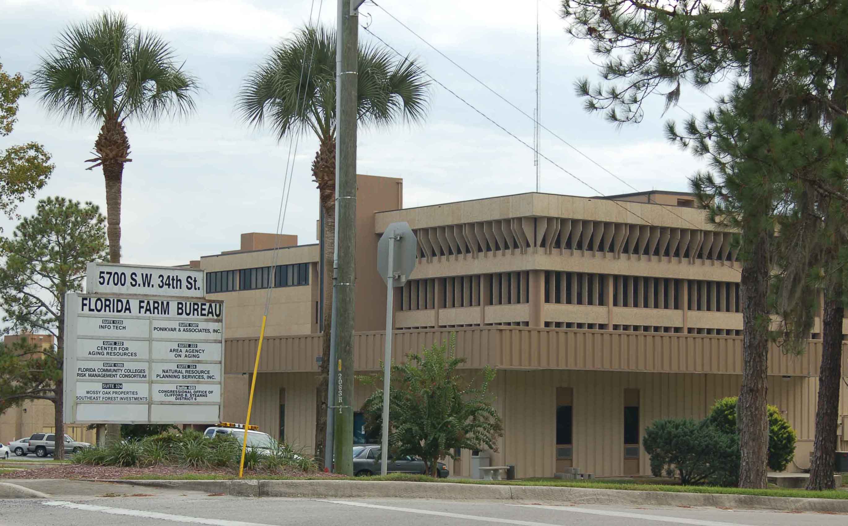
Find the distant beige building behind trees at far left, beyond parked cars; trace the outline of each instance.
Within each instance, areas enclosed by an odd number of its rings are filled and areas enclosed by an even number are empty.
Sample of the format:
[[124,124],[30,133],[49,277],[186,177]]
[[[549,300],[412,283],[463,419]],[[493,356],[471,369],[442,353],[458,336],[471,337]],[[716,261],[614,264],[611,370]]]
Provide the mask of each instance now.
[[[52,334],[15,334],[3,337],[3,344],[12,345],[20,339],[28,339],[31,344],[41,349],[53,347],[55,340]],[[52,433],[55,423],[55,407],[50,400],[27,400],[20,406],[14,406],[0,414],[0,442],[7,444],[11,440],[28,438],[33,433]],[[64,427],[65,434],[70,434],[75,440],[94,442],[95,432],[86,430],[86,426]]]

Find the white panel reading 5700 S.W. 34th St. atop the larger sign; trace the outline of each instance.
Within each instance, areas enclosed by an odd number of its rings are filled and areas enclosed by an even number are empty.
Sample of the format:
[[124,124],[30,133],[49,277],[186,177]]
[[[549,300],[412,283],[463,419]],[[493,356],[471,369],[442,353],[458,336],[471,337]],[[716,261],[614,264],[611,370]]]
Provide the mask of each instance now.
[[88,294],[147,294],[203,298],[204,271],[198,268],[89,263]]

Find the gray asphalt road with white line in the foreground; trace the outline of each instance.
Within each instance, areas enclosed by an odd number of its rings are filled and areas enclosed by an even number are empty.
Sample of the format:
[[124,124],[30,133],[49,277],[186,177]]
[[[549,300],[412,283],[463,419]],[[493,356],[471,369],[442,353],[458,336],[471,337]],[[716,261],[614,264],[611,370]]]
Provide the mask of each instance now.
[[[154,490],[148,496],[57,497],[56,500],[0,501],[2,526],[845,526],[843,515],[745,512],[715,508],[625,508],[615,506],[541,506],[502,502],[454,502],[421,499],[319,501],[243,498]],[[105,495],[105,494],[104,494]]]

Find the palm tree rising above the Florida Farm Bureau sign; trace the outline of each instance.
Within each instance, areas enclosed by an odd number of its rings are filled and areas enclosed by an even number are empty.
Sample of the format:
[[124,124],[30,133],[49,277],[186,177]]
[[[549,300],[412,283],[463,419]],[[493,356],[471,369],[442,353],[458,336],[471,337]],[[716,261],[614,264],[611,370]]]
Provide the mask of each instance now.
[[103,166],[109,260],[120,263],[120,191],[132,159],[124,123],[188,115],[198,83],[176,64],[170,44],[141,31],[120,13],[105,11],[70,25],[42,56],[32,86],[48,111],[70,120],[101,123],[88,167]]

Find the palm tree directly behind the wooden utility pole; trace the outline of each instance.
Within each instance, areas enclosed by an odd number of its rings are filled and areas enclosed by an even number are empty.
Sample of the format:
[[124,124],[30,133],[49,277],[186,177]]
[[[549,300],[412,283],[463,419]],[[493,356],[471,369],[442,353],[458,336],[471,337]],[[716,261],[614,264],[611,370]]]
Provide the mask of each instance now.
[[[360,126],[388,126],[398,120],[420,122],[427,110],[427,76],[416,61],[395,59],[388,48],[360,46],[358,120]],[[324,347],[315,418],[315,456],[323,458],[326,387],[330,362],[332,253],[336,213],[336,36],[325,27],[306,27],[271,50],[244,81],[237,110],[256,127],[268,126],[278,141],[314,133],[318,152],[312,162],[324,219]]]

